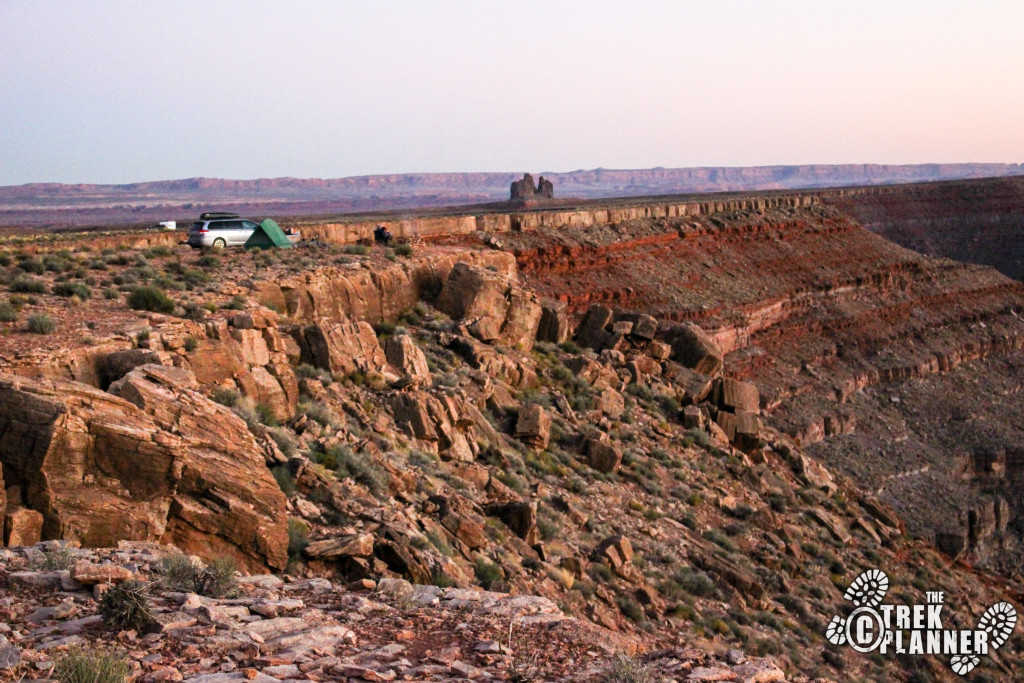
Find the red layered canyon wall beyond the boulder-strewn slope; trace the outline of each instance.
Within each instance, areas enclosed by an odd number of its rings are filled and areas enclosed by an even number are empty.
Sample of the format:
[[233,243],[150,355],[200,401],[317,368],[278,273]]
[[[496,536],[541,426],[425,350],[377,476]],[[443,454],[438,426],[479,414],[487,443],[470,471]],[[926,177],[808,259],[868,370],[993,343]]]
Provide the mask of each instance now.
[[[1024,288],[995,270],[902,249],[821,204],[542,228],[508,243],[523,281],[577,314],[598,302],[700,325],[727,371],[761,388],[770,424],[804,444],[829,439],[814,452],[879,490],[914,533],[966,536],[969,510],[993,497],[1021,509],[1017,473],[982,486],[974,456],[962,458],[971,446],[940,443],[905,415],[894,429],[902,403],[887,399],[934,375],[949,374],[940,386],[974,377],[954,395],[984,416],[993,356],[1009,364],[1008,390],[1019,386]],[[1018,403],[989,451],[1015,452]],[[921,495],[905,495],[915,482]]]

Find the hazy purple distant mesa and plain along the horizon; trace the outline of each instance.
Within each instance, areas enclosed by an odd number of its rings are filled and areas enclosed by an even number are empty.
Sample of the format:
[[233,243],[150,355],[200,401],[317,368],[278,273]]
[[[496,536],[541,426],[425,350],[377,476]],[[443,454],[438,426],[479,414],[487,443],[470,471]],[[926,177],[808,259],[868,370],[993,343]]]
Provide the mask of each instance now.
[[[0,228],[152,225],[218,208],[275,218],[504,203],[521,173],[407,173],[349,178],[187,178],[126,184],[0,187]],[[1024,175],[1019,164],[807,165],[593,169],[544,175],[558,202],[609,197],[878,185]]]

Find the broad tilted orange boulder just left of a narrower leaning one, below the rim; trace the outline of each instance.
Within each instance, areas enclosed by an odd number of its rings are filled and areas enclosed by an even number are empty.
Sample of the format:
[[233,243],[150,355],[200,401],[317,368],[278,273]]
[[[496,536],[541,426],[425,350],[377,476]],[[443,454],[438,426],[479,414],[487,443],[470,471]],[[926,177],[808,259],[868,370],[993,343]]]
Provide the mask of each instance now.
[[387,355],[366,322],[322,322],[302,329],[302,359],[340,375],[380,372]]

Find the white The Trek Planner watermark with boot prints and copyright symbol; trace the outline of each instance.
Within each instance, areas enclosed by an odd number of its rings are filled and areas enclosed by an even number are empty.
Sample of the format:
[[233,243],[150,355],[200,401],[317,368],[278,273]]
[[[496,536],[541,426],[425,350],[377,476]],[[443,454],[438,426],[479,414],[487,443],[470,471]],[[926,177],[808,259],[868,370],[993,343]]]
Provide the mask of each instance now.
[[999,602],[985,610],[976,629],[943,629],[941,591],[928,591],[924,605],[883,604],[888,591],[889,577],[881,569],[857,577],[843,594],[855,609],[846,618],[833,616],[825,629],[828,642],[858,652],[945,655],[953,672],[965,676],[1007,642],[1017,624],[1014,606]]

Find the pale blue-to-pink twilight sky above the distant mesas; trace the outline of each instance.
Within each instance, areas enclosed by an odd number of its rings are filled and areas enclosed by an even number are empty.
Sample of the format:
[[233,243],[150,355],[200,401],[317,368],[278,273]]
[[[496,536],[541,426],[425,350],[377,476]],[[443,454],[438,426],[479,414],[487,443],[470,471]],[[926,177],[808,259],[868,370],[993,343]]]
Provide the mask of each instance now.
[[0,0],[0,184],[1020,163],[1022,28],[1020,0]]

